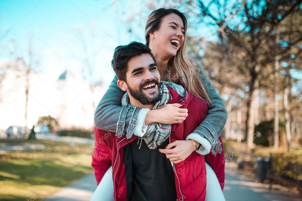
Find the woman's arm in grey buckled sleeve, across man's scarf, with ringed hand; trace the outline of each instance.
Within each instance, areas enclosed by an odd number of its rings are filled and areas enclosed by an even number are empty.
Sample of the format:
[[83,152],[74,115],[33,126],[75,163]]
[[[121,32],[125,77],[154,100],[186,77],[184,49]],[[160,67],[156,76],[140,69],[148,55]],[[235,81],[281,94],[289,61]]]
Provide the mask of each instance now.
[[[114,76],[109,89],[106,91],[95,110],[95,127],[116,132],[118,137],[120,137],[123,132],[127,133],[128,138],[131,137],[132,133],[141,137],[146,130],[147,124],[155,122],[160,122],[162,124],[181,123],[178,122],[179,118],[182,117],[182,120],[184,121],[188,116],[187,109],[183,109],[182,113],[178,112],[179,107],[182,106],[178,103],[167,104],[165,107],[158,110],[136,108],[134,111],[133,108],[122,107],[121,100],[124,94],[125,92],[117,86],[117,77]],[[146,115],[148,116],[146,117]]]

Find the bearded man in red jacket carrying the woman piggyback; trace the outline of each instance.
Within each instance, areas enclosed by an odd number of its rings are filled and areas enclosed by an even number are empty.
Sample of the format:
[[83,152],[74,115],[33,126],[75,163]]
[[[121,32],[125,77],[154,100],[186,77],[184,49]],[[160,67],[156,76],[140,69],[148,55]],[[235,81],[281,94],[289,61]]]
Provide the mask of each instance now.
[[[198,142],[204,140],[202,137],[190,139],[190,133],[205,118],[206,102],[180,85],[161,82],[155,58],[142,43],[118,46],[112,66],[118,86],[127,91],[122,99],[123,106],[155,109],[167,103],[183,103],[184,109],[188,108],[195,114],[190,114],[182,124],[143,126],[142,130],[134,130],[126,137],[118,128],[117,137],[95,129],[96,148],[92,166],[98,183],[112,165],[115,200],[204,200],[205,161],[204,155],[197,153],[200,149]],[[137,136],[139,139],[135,140]],[[106,140],[97,144],[100,137]],[[167,156],[158,149],[164,149],[169,142],[184,140],[192,153],[184,161],[172,164],[172,167]],[[172,153],[170,150],[173,149],[169,149]]]

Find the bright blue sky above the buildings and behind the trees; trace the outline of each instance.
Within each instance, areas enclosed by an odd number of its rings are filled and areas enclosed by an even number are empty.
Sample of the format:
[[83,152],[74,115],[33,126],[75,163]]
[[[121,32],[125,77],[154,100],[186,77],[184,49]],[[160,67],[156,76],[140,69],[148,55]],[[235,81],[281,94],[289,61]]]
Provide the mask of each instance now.
[[[101,78],[109,84],[114,76],[111,69],[114,48],[133,40],[145,42],[144,28],[151,12],[146,2],[0,0],[0,59],[9,59],[9,51],[27,58],[32,36],[37,61],[34,67],[38,72],[58,79],[69,69],[91,82]],[[185,7],[180,10],[186,11]],[[189,17],[194,20],[191,13]],[[134,28],[131,33],[127,32],[129,27]],[[201,25],[189,27],[189,34],[213,39],[215,30]],[[87,58],[92,75],[89,75]],[[295,76],[302,77],[297,73]]]

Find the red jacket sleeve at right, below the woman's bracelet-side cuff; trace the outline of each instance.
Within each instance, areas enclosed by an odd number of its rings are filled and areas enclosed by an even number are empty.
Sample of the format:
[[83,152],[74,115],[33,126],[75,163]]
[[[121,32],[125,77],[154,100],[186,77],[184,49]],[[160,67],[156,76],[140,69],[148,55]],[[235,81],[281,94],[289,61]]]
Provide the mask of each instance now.
[[[223,147],[221,137],[219,137],[219,141],[221,142],[221,147]],[[214,154],[212,154],[212,152],[210,152],[207,155],[205,155],[204,158],[205,158],[206,162],[214,170],[214,172],[218,178],[218,181],[220,183],[221,190],[223,190],[224,179],[225,179],[225,173],[224,173],[225,160],[224,160],[223,150],[220,154],[217,153],[216,155],[214,155]]]

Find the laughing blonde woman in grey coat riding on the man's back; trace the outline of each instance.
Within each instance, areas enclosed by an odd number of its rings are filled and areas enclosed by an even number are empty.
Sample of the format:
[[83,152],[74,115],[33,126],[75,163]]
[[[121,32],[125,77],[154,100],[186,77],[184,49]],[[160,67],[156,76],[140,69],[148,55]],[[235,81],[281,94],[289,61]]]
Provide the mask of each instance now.
[[[222,99],[217,95],[201,68],[194,61],[188,59],[185,52],[186,30],[187,19],[183,13],[175,9],[160,8],[153,11],[148,18],[146,45],[149,46],[156,58],[161,80],[181,84],[194,96],[207,101],[209,105],[208,115],[190,135],[197,146],[201,144],[202,147],[197,152],[206,155],[207,162],[212,168],[220,161],[220,167],[213,169],[219,178],[221,189],[223,189],[224,166],[221,164],[223,152],[218,137],[226,122],[226,110]],[[142,131],[143,127],[154,122],[162,124],[181,123],[188,115],[186,110],[179,112],[181,105],[178,104],[169,104],[164,108],[149,111],[142,108],[135,110],[129,108],[126,114],[121,114],[123,107],[120,105],[124,91],[119,89],[116,81],[115,77],[95,111],[95,126],[99,129],[121,135],[124,131],[135,134],[136,131]],[[134,111],[137,115],[133,115]],[[120,121],[123,115],[125,120]],[[192,153],[189,149],[190,146],[188,146],[188,143],[191,142],[188,141],[178,140],[177,146],[171,149],[173,152],[166,154],[166,157],[175,164],[185,160]],[[171,148],[172,145],[175,143],[172,142],[167,147]],[[209,153],[210,151],[211,153]],[[214,157],[217,153],[219,157]],[[210,170],[207,169],[207,184],[214,185],[209,182],[213,178],[213,175],[208,175],[209,172]],[[211,190],[207,185],[207,197],[208,195],[215,195],[215,193],[211,194],[210,192]]]

